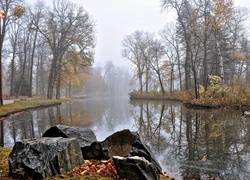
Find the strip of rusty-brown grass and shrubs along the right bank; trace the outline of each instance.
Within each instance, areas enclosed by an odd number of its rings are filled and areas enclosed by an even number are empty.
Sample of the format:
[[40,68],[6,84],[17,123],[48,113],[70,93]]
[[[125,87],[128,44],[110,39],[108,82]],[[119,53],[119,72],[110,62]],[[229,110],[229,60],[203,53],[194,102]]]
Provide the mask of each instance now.
[[194,91],[182,91],[174,93],[162,94],[160,92],[148,93],[130,93],[130,99],[144,99],[144,100],[174,100],[181,101],[190,107],[228,107],[236,109],[250,108],[250,89],[230,87],[220,92],[202,92],[198,97],[194,96]]

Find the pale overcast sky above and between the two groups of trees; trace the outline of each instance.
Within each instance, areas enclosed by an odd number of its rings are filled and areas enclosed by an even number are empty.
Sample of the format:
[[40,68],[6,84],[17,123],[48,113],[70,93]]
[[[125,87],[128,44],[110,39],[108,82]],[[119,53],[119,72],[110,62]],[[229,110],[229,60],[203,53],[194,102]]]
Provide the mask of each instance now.
[[[27,0],[27,2],[34,0]],[[52,0],[46,0],[52,2]],[[96,21],[95,62],[113,61],[126,66],[121,56],[121,42],[136,30],[158,33],[172,19],[161,12],[160,0],[71,0],[82,5]],[[235,0],[236,5],[250,7],[250,0]]]

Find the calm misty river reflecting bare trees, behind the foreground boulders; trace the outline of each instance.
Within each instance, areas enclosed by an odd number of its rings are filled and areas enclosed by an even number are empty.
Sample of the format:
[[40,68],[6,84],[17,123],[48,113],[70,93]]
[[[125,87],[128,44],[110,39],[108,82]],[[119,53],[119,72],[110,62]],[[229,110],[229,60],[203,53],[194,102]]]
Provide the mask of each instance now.
[[99,141],[137,131],[175,179],[250,179],[250,117],[237,110],[194,110],[179,102],[88,98],[27,111],[1,123],[6,147],[51,126],[87,127]]

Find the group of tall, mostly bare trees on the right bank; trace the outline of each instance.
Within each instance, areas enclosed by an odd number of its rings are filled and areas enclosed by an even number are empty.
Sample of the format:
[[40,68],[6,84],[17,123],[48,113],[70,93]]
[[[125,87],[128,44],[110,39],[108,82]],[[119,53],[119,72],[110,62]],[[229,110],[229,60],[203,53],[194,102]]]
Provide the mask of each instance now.
[[[136,31],[122,41],[133,68],[134,91],[193,90],[209,87],[209,75],[222,87],[250,85],[247,9],[233,0],[161,0],[175,14],[159,34]],[[167,17],[166,17],[167,18]]]

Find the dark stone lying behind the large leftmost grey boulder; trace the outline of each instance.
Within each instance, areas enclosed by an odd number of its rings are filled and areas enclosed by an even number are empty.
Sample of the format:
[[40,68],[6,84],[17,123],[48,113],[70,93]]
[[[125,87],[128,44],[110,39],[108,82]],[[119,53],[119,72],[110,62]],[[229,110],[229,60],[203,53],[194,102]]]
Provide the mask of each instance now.
[[76,138],[80,147],[90,146],[97,141],[94,132],[90,129],[61,124],[49,128],[42,137]]

